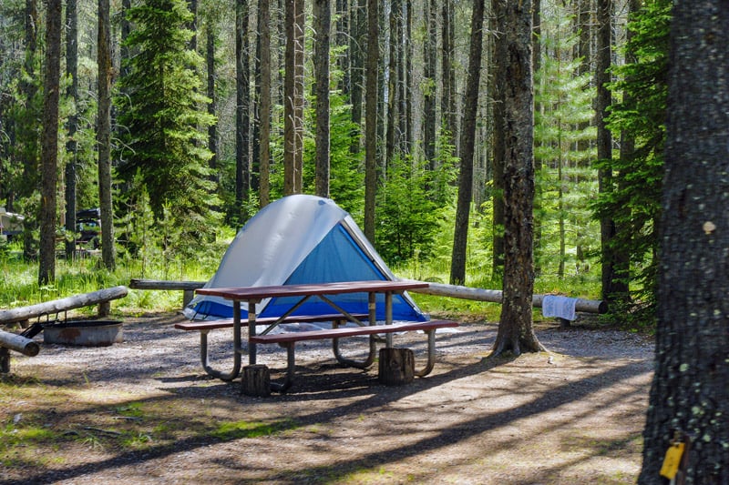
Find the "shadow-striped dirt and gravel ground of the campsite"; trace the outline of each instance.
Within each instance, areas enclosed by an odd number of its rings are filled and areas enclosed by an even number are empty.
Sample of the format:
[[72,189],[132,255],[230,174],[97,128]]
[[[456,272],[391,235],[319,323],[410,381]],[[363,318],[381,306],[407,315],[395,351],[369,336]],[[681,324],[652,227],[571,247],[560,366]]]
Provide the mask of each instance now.
[[[652,342],[548,322],[549,352],[486,359],[496,325],[438,333],[436,368],[378,384],[336,365],[328,342],[297,347],[287,394],[250,398],[200,368],[177,314],[124,318],[106,348],[43,344],[0,382],[0,483],[634,483]],[[227,330],[210,334],[230,368]],[[42,341],[42,336],[38,337]],[[354,339],[355,356],[366,340]],[[395,344],[422,360],[425,336]],[[282,369],[282,349],[259,347]]]

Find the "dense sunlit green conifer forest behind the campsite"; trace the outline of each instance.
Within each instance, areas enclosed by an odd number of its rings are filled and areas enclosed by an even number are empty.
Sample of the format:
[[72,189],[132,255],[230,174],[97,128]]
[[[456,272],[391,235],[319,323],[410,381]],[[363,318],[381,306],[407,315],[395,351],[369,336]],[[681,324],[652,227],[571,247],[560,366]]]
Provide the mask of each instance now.
[[[400,276],[498,288],[509,203],[498,2],[375,4],[372,36],[364,0],[0,2],[0,206],[26,217],[0,243],[0,305],[129,277],[207,279],[259,207],[300,192],[334,198]],[[536,289],[609,299],[633,327],[654,320],[669,11],[665,0],[533,9]],[[75,258],[87,207],[101,208],[99,261]]]

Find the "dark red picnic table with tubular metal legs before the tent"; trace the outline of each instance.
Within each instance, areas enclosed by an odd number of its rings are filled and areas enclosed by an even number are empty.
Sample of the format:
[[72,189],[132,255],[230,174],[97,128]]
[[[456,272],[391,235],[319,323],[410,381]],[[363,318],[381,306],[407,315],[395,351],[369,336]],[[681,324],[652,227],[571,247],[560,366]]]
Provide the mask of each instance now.
[[[434,336],[436,328],[456,327],[456,322],[448,322],[443,320],[426,321],[426,322],[393,322],[393,295],[402,293],[408,289],[427,288],[428,283],[414,280],[366,280],[366,281],[344,281],[335,283],[317,283],[303,285],[283,285],[268,287],[240,287],[240,288],[200,288],[197,293],[200,295],[210,295],[231,300],[233,307],[233,368],[231,372],[221,372],[212,369],[210,365],[203,366],[206,371],[217,378],[223,380],[231,380],[238,377],[241,372],[241,328],[244,324],[248,326],[248,360],[249,365],[256,364],[256,347],[257,344],[277,343],[288,350],[288,368],[286,378],[282,385],[285,390],[293,381],[294,368],[294,345],[297,341],[310,339],[331,338],[333,340],[334,355],[342,363],[358,368],[367,368],[375,361],[375,335],[385,334],[386,346],[392,347],[392,334],[401,331],[423,330],[428,334],[428,363],[426,368],[417,372],[416,375],[424,376],[433,368],[434,353]],[[352,313],[341,308],[334,303],[328,296],[342,293],[366,293],[367,294],[367,324],[365,325],[360,318],[361,315],[353,315]],[[384,295],[384,298],[377,298],[378,295]],[[284,312],[279,318],[270,318],[265,320],[268,326],[257,332],[257,326],[260,325],[256,312],[256,305],[267,298],[294,297],[293,304],[288,311]],[[333,321],[333,328],[323,330],[310,330],[303,332],[283,332],[272,334],[273,328],[277,328],[282,323],[295,321],[293,313],[297,308],[310,298],[319,298],[326,302],[336,312],[333,314],[322,315],[321,321]],[[241,317],[241,303],[248,305],[248,318]],[[377,304],[385,306],[385,322],[384,325],[377,325]],[[309,320],[315,319],[317,316],[308,316]],[[271,321],[272,320],[272,321]],[[299,319],[301,321],[301,319]],[[342,322],[353,322],[355,327],[339,327]],[[204,325],[204,324],[202,324]],[[181,327],[180,327],[181,328]],[[184,329],[201,329],[189,326]],[[344,359],[338,350],[338,339],[351,337],[354,335],[369,335],[369,353],[364,361],[354,361]]]

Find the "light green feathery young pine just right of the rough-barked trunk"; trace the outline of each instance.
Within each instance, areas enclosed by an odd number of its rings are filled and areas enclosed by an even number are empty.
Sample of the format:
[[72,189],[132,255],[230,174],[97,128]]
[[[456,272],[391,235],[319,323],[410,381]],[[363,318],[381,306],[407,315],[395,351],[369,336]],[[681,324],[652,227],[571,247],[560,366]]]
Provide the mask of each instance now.
[[[581,59],[571,58],[574,46],[580,40],[570,35],[570,19],[559,9],[542,18],[542,46],[545,56],[535,75],[535,157],[541,167],[539,178],[539,220],[542,225],[541,246],[555,240],[559,243],[557,276],[563,278],[567,262],[567,248],[574,248],[578,256],[589,244],[584,237],[590,224],[585,200],[596,190],[596,180],[586,170],[587,162],[594,159],[594,149],[580,143],[594,139],[595,128],[588,123],[594,112],[591,102],[595,95],[590,88],[591,73],[575,75]],[[555,207],[556,204],[556,207]],[[557,229],[556,234],[550,227]],[[598,230],[597,228],[595,230]],[[594,232],[593,232],[594,234]],[[569,240],[568,240],[569,239]],[[543,249],[543,248],[542,248]],[[593,248],[597,249],[597,248]],[[538,255],[547,251],[535,248]],[[547,261],[539,261],[542,268]],[[577,265],[580,261],[575,262]]]

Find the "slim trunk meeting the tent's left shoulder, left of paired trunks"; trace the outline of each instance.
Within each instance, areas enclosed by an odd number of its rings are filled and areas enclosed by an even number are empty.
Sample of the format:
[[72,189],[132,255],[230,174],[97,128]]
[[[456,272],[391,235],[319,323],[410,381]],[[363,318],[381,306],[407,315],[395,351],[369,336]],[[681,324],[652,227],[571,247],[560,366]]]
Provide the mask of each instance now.
[[261,96],[259,98],[259,118],[261,123],[260,155],[260,190],[259,200],[261,207],[268,205],[271,200],[269,173],[271,171],[271,12],[268,0],[259,0],[258,35],[261,42]]

